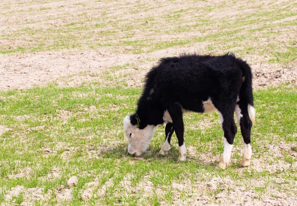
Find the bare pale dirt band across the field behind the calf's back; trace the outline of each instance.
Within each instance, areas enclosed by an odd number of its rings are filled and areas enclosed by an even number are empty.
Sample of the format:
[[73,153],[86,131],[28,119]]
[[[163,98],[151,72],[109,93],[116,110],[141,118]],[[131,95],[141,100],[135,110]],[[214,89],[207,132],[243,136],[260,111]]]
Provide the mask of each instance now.
[[[122,78],[129,83],[128,86],[141,87],[146,72],[157,62],[158,58],[195,51],[195,47],[193,47],[166,49],[148,54],[112,54],[95,51],[1,54],[0,89],[25,89],[46,85],[52,81],[56,81],[59,86],[78,86],[82,82],[89,81],[99,81],[103,86],[107,86],[106,81],[104,81],[106,70],[109,67],[125,65],[131,62],[134,66],[128,66],[124,71],[131,75]],[[156,59],[156,61],[146,61],[147,58]],[[249,64],[252,68],[254,89],[286,82],[297,85],[297,62],[291,65],[261,63],[258,57],[251,57],[247,59],[247,62],[253,62]],[[117,73],[112,72],[112,75],[117,75]],[[66,77],[66,79],[62,77]],[[112,82],[108,82],[108,85],[111,86]]]

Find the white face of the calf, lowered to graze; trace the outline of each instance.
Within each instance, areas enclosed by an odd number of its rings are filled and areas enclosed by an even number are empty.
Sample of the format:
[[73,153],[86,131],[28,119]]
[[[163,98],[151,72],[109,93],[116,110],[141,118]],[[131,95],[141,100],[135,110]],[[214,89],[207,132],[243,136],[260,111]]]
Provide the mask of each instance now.
[[[136,115],[137,116],[137,115]],[[156,126],[147,125],[144,129],[138,128],[138,118],[135,115],[128,115],[124,118],[124,132],[128,139],[128,154],[140,156],[148,149],[148,144],[153,136]]]

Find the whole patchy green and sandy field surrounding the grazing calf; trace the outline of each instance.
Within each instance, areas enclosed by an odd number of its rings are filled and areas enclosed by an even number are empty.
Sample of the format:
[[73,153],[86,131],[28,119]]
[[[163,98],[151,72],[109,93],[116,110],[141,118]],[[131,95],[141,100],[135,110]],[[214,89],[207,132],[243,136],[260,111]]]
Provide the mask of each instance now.
[[[295,0],[1,0],[0,206],[297,205]],[[158,127],[127,154],[123,118],[164,56],[234,52],[253,72],[252,160],[226,170],[217,113],[189,113],[185,162]],[[74,185],[67,183],[77,177]]]

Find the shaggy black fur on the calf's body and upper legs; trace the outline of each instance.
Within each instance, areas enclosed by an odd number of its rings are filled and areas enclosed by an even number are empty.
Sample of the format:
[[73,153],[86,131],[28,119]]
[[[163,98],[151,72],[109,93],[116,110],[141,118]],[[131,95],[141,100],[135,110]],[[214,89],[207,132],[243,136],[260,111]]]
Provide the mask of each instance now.
[[[243,114],[241,130],[245,143],[250,143],[252,123],[247,113],[247,104],[253,105],[252,74],[246,61],[229,53],[222,56],[184,54],[162,58],[148,72],[146,78],[137,115],[130,116],[133,125],[137,124],[136,118],[140,120],[140,129],[148,124],[162,124],[164,111],[168,110],[173,121],[173,130],[170,125],[166,133],[175,130],[181,146],[184,143],[181,108],[203,112],[202,101],[211,98],[223,115],[224,137],[229,144],[233,144],[237,132],[234,122],[235,106],[240,105]],[[237,103],[238,96],[240,101]]]

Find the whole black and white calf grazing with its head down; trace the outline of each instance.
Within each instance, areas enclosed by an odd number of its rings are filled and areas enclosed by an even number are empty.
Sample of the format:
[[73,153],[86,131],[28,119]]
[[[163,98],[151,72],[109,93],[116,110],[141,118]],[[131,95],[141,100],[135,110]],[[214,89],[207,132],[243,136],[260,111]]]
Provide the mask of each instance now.
[[145,152],[156,126],[165,122],[166,139],[159,153],[169,151],[170,139],[175,131],[179,160],[185,160],[183,113],[217,111],[224,130],[224,153],[219,167],[224,169],[230,161],[237,132],[235,112],[245,142],[241,166],[249,165],[250,131],[255,121],[255,110],[252,75],[246,61],[229,53],[222,56],[185,54],[162,58],[146,77],[136,113],[124,119],[130,155],[140,156]]

